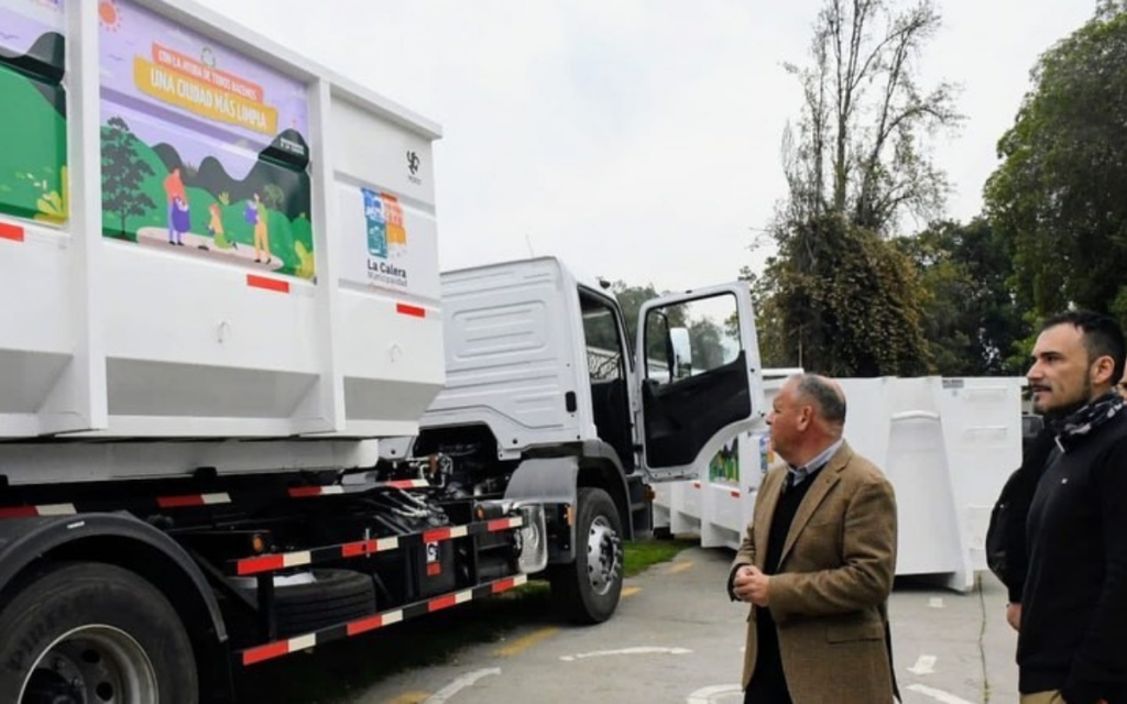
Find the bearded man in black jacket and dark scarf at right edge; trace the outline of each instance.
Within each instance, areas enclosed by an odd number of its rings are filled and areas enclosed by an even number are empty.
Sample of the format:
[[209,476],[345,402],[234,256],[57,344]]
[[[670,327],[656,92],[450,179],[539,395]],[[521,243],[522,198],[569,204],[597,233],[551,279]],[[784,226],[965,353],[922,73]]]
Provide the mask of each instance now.
[[1027,374],[1055,419],[1029,507],[1020,605],[1022,704],[1127,702],[1127,411],[1124,335],[1106,315],[1048,320]]

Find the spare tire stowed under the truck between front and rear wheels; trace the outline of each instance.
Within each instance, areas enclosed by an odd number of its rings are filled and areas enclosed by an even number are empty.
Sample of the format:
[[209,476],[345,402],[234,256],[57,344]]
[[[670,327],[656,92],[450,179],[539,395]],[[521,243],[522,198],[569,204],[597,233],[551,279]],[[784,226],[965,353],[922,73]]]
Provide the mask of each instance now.
[[[375,583],[369,574],[313,570],[313,577],[317,581],[274,588],[278,638],[302,635],[375,613]],[[236,633],[242,636],[240,640],[260,640],[252,623],[237,627]]]

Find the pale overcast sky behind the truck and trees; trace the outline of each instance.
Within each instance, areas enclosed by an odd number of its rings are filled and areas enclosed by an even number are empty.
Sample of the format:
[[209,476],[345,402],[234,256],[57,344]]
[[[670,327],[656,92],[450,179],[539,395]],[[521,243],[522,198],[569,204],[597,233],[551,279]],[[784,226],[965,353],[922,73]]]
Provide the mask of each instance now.
[[[801,109],[781,64],[808,62],[820,0],[201,1],[442,126],[444,269],[557,255],[663,291],[762,267]],[[924,83],[961,86],[967,121],[933,149],[966,220],[1037,56],[1094,0],[939,8]]]

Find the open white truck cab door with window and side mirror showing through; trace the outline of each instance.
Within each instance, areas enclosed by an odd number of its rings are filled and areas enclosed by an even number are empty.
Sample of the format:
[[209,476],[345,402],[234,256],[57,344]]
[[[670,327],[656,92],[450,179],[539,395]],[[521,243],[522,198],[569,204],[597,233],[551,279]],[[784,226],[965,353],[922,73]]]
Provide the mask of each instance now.
[[642,466],[651,481],[695,478],[766,413],[747,284],[654,298],[638,321]]

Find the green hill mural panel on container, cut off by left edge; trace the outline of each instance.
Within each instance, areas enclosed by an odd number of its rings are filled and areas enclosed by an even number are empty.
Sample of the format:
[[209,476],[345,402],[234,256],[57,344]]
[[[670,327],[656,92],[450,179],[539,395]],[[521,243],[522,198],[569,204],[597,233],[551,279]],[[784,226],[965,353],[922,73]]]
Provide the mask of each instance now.
[[66,222],[62,0],[0,2],[0,214]]

